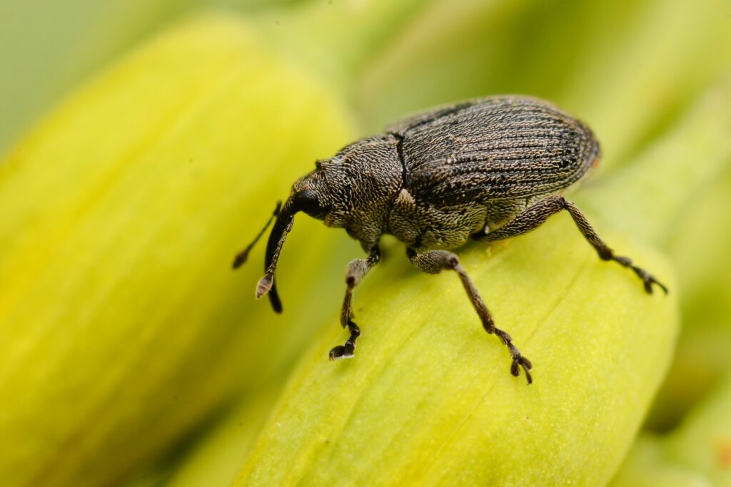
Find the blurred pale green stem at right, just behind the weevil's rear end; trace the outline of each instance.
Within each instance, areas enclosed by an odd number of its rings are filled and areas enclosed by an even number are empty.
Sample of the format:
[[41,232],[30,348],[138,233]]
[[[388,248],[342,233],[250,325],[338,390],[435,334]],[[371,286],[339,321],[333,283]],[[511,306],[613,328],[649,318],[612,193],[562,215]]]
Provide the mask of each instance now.
[[654,245],[686,231],[680,226],[686,213],[731,166],[731,71],[727,74],[624,170],[587,188],[582,201],[592,212]]

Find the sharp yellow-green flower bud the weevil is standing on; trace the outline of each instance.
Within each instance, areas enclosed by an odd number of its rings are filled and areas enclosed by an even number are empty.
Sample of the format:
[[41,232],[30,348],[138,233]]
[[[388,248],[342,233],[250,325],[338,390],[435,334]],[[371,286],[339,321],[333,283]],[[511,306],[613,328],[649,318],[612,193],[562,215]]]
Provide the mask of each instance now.
[[[675,288],[662,258],[605,237]],[[527,386],[456,275],[420,274],[389,250],[355,295],[355,358],[327,361],[344,331],[317,341],[237,485],[604,485],[670,361],[674,295],[648,296],[599,261],[568,215],[471,245],[463,266],[533,361]]]

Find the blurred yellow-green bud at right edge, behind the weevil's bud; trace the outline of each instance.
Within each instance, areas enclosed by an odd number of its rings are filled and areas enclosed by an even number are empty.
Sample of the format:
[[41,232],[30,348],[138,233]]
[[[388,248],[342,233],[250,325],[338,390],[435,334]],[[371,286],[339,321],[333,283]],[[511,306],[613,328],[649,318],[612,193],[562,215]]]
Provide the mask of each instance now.
[[677,426],[731,367],[731,219],[719,218],[729,207],[731,165],[687,202],[677,221],[670,258],[683,283],[683,329],[648,419],[651,429]]

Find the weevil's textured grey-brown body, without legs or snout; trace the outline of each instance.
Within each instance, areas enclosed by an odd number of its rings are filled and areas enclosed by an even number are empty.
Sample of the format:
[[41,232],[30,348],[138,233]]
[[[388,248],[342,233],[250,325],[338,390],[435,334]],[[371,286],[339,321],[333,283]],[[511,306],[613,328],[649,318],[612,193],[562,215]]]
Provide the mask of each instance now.
[[545,101],[477,99],[353,142],[292,192],[321,195],[325,224],[366,250],[382,234],[415,250],[455,248],[572,185],[598,157],[591,131]]

